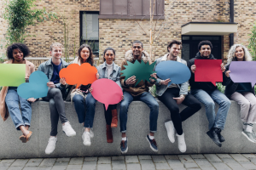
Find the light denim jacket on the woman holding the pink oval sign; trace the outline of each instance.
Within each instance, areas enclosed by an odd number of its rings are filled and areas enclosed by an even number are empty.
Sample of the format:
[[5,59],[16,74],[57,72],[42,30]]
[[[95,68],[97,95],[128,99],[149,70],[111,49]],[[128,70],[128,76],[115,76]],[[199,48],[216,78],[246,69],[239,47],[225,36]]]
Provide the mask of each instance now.
[[[108,78],[108,71],[106,71],[106,61],[102,65],[97,66],[97,70],[100,75],[99,79]],[[113,72],[110,74],[109,79],[113,80],[113,82],[116,82],[119,85],[119,87],[122,88],[120,83],[120,71],[121,68],[119,67],[119,65],[113,63]]]

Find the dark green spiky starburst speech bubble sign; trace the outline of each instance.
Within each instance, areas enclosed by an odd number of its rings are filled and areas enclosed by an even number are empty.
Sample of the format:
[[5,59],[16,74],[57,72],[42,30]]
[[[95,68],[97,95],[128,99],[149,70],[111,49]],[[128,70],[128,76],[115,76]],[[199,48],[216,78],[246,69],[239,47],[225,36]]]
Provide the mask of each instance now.
[[154,65],[155,65],[156,61],[154,61],[154,63],[152,63],[151,65],[149,65],[149,63],[144,63],[143,61],[140,63],[138,62],[138,60],[136,59],[136,61],[134,63],[131,63],[129,61],[127,61],[128,65],[124,65],[125,66],[125,70],[121,71],[121,73],[123,73],[121,75],[121,77],[125,77],[125,81],[132,77],[135,76],[136,77],[136,84],[135,86],[137,86],[137,84],[139,82],[141,82],[142,80],[146,80],[146,81],[150,81],[149,78],[151,74],[155,73],[154,70]]

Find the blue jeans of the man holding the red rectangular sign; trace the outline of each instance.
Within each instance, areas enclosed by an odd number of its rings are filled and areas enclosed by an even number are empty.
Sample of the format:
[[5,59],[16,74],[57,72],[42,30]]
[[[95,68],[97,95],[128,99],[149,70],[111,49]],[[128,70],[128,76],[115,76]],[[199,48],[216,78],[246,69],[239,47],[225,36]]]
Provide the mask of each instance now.
[[[209,122],[209,130],[212,127],[218,127],[224,130],[224,125],[228,112],[230,110],[230,99],[228,99],[224,94],[218,91],[218,89],[213,91],[204,91],[202,89],[191,89],[191,94],[195,96],[203,105],[205,105],[207,110],[207,119]],[[217,115],[215,116],[215,104],[219,105]]]

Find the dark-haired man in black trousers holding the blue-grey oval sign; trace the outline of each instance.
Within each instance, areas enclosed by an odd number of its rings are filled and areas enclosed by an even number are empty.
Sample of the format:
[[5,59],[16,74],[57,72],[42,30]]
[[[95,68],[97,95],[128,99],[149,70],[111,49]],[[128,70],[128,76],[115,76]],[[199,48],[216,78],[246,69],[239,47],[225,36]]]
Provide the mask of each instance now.
[[[156,65],[160,64],[160,62],[166,60],[173,60],[182,63],[183,65],[187,65],[187,62],[184,59],[181,59],[178,54],[182,48],[182,43],[176,40],[172,40],[167,46],[168,54],[156,59]],[[154,67],[154,69],[155,69]],[[182,84],[174,84],[172,83],[168,86],[168,82],[171,82],[170,78],[166,80],[162,80],[159,77],[157,78],[156,85],[156,94],[158,95],[158,99],[166,105],[168,110],[171,113],[172,121],[165,122],[166,131],[168,134],[168,138],[172,143],[175,142],[174,134],[176,131],[176,136],[178,140],[178,149],[181,152],[186,151],[186,143],[184,139],[182,122],[188,119],[190,116],[193,116],[195,112],[201,110],[200,102],[195,99],[192,94],[188,93],[188,82],[183,82]],[[188,107],[183,111],[179,112],[178,105],[183,104]]]

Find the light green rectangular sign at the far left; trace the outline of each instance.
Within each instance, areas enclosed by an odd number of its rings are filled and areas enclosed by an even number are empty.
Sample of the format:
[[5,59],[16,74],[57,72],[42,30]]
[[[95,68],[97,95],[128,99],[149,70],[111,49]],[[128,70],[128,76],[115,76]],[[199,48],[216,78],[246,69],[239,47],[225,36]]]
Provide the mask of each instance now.
[[18,87],[26,82],[25,64],[0,64],[0,86]]

